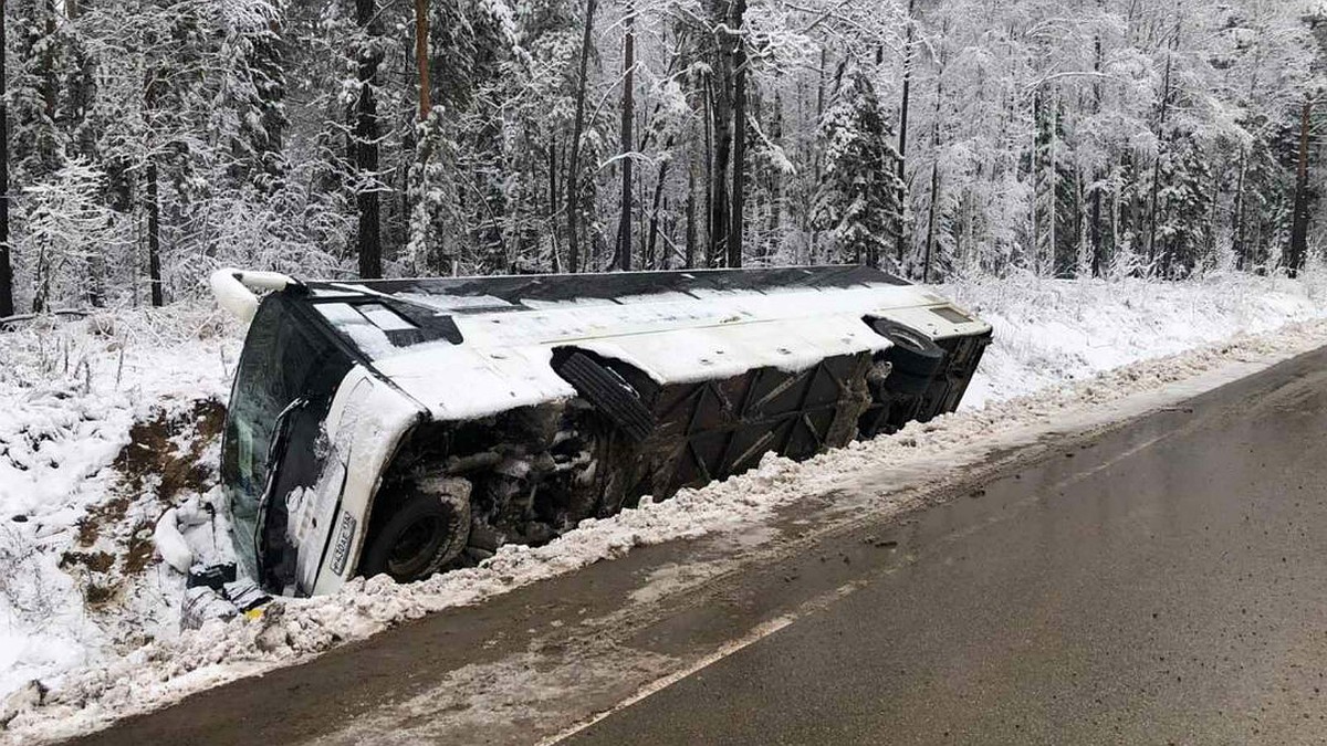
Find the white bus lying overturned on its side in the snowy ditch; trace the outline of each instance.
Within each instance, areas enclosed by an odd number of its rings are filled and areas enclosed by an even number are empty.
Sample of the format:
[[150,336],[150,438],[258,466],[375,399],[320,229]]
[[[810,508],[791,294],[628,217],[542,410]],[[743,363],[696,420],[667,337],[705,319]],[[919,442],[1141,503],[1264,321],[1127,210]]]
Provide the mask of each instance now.
[[212,288],[251,321],[222,447],[236,550],[300,596],[953,411],[991,335],[863,267]]

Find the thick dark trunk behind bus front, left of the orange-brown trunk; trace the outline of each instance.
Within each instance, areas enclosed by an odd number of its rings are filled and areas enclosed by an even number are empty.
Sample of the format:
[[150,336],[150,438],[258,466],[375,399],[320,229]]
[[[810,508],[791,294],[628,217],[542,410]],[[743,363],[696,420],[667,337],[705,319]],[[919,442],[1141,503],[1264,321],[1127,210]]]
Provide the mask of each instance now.
[[382,50],[378,48],[378,20],[374,0],[356,0],[356,20],[368,37],[368,45],[360,49],[360,98],[354,119],[356,169],[360,171],[360,194],[356,198],[360,208],[360,276],[372,279],[382,276],[382,234],[380,220],[378,190],[366,187],[365,182],[378,181],[378,104],[373,88],[378,82],[378,65]]

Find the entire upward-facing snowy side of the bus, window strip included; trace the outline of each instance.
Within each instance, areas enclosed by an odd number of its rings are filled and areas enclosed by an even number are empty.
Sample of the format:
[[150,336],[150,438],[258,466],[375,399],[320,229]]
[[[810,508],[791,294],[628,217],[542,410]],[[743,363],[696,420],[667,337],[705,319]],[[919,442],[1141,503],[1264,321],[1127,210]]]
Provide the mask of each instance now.
[[[928,288],[857,267],[386,280],[312,289],[325,288],[345,295],[314,293],[318,312],[374,361],[378,374],[443,421],[573,396],[551,365],[559,348],[679,384],[880,352],[890,342],[871,331],[869,317],[890,317],[936,338],[989,331],[961,313],[936,313],[945,300]],[[591,295],[577,295],[583,289]],[[402,320],[418,328],[402,329]],[[439,323],[455,335],[425,333]]]

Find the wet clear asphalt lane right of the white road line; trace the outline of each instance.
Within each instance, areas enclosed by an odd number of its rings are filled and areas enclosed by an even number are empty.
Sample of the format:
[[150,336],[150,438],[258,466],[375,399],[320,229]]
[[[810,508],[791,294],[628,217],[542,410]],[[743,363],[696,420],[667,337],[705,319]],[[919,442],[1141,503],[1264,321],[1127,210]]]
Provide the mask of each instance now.
[[565,743],[1327,742],[1322,354],[913,531],[916,561]]

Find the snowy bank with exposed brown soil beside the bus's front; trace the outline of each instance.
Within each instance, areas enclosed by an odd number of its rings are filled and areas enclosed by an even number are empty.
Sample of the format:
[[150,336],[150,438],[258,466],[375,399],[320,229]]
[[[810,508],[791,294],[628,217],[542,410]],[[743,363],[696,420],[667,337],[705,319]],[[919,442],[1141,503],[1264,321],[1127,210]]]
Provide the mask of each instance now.
[[192,435],[239,346],[211,308],[0,332],[0,693],[178,633],[151,530],[211,481],[215,438]]

